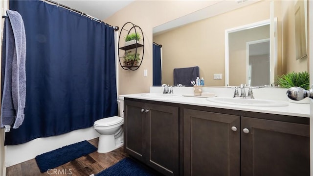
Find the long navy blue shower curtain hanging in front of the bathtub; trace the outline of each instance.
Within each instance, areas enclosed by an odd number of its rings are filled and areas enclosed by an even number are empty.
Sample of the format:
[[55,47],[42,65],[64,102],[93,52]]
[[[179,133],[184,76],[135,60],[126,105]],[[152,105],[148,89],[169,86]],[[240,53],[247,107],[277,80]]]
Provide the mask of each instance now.
[[117,115],[114,30],[39,0],[10,0],[26,33],[25,119],[5,145],[67,133]]

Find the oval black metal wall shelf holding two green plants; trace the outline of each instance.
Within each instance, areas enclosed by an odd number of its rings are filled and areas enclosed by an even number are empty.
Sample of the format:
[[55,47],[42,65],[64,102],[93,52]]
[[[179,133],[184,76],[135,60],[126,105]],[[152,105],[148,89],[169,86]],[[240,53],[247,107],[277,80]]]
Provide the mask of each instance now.
[[[139,43],[136,41],[136,43],[134,43],[132,45],[125,46],[125,44],[124,44],[125,40],[123,38],[121,40],[121,36],[127,36],[130,33],[136,33],[136,34],[141,35],[142,43],[140,43],[140,41],[139,41]],[[127,23],[125,23],[125,25],[123,25],[121,32],[119,34],[119,38],[118,38],[118,58],[119,58],[118,60],[119,60],[119,64],[121,65],[121,67],[124,70],[133,70],[134,71],[140,67],[142,60],[143,60],[144,43],[145,43],[145,40],[144,40],[143,32],[138,25],[134,25],[131,22],[127,22]],[[134,51],[134,59],[133,59],[133,62],[131,65],[125,65],[123,56],[126,54],[126,52],[129,52],[130,50],[132,52]],[[120,52],[123,53],[122,56],[120,56],[121,55]],[[137,53],[139,53],[139,57],[141,59],[140,59],[140,63],[138,62],[137,65],[134,65],[134,63],[135,63],[134,60],[135,60],[135,56],[137,55]],[[122,62],[121,62],[121,60],[122,60]]]

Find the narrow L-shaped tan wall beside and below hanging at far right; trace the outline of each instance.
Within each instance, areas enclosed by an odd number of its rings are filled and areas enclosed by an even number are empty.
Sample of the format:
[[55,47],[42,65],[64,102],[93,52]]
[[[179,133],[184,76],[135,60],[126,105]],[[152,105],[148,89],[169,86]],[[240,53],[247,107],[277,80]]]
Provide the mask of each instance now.
[[282,74],[289,72],[308,71],[308,57],[296,60],[295,54],[295,26],[294,26],[294,1],[282,1]]

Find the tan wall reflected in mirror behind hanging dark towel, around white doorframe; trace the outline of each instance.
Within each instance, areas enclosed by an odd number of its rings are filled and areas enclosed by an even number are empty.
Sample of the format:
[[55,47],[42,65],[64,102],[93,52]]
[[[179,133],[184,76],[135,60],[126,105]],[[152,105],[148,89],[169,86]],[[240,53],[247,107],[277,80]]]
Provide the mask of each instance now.
[[[163,83],[173,85],[174,68],[199,66],[200,77],[204,77],[206,85],[224,86],[225,30],[268,20],[269,3],[269,1],[260,1],[155,36],[153,39],[154,42],[162,45]],[[244,55],[246,55],[246,52]],[[242,59],[245,60],[246,57]],[[242,65],[242,63],[244,63],[244,65]],[[232,63],[230,69],[245,68],[245,63],[246,62]],[[238,64],[238,66],[235,66],[236,64]],[[236,73],[235,75],[229,75],[229,85],[233,85],[232,82],[246,82],[246,76],[240,75],[240,72],[237,71],[236,69],[236,71],[232,72]],[[242,73],[245,74],[246,69],[243,69]],[[213,74],[222,74],[223,79],[214,80]],[[233,80],[231,82],[233,78],[240,79],[241,77],[245,81]]]

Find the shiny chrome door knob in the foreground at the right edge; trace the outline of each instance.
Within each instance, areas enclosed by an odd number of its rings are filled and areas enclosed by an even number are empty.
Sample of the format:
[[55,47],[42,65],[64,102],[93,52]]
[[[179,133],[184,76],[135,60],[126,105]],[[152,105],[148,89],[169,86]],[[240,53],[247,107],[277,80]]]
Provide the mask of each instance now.
[[291,87],[286,92],[287,97],[291,100],[303,100],[307,97],[313,99],[313,85],[309,90],[305,90],[301,87]]

